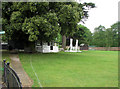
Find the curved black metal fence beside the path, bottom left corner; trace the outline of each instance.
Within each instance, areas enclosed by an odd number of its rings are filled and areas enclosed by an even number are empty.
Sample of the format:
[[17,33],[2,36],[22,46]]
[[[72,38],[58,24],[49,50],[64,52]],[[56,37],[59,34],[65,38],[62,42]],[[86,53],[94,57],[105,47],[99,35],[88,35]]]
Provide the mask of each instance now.
[[7,89],[17,88],[22,89],[22,84],[16,72],[10,67],[10,63],[3,60],[3,82]]

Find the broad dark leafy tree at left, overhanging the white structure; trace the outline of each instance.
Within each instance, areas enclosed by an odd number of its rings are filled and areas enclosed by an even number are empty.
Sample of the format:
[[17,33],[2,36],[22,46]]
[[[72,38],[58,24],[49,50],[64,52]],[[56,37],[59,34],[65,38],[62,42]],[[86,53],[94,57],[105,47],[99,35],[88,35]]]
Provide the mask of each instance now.
[[3,30],[14,44],[37,40],[51,41],[60,32],[56,13],[51,12],[48,2],[3,3]]

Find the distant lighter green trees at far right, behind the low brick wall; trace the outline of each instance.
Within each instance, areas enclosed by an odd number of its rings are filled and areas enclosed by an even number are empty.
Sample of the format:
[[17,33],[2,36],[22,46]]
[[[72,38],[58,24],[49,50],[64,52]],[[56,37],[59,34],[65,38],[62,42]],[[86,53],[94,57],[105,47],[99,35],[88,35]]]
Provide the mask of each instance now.
[[100,47],[118,47],[118,25],[120,22],[116,22],[111,28],[105,28],[99,26],[95,28],[93,33],[93,45]]

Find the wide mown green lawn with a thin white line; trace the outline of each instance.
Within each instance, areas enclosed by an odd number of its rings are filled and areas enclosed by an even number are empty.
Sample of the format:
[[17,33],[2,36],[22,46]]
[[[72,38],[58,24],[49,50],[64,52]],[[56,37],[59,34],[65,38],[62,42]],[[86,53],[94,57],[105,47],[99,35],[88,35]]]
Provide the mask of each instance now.
[[[117,87],[118,52],[83,51],[82,53],[19,54],[23,68],[39,87]],[[30,63],[31,61],[31,63]]]

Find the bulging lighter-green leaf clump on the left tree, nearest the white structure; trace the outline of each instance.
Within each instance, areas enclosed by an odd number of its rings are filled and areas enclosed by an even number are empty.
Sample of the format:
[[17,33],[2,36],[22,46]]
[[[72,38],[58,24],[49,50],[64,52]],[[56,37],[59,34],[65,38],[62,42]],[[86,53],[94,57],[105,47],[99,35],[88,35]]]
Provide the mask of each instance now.
[[29,34],[30,41],[44,40],[50,41],[57,37],[60,32],[58,19],[55,13],[47,13],[44,16],[34,16],[25,19],[22,30]]

